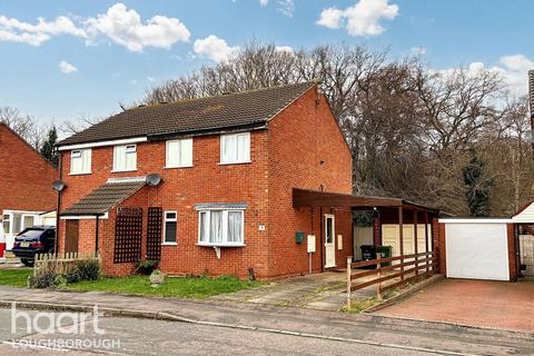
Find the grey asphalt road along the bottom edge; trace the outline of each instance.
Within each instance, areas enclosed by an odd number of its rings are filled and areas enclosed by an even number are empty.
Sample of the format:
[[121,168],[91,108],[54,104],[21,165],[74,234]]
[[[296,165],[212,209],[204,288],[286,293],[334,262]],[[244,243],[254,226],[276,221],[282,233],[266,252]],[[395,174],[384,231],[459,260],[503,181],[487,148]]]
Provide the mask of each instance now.
[[[19,310],[20,312],[20,310]],[[38,312],[22,310],[34,318]],[[59,316],[59,314],[55,314]],[[278,333],[235,329],[220,326],[198,325],[154,319],[136,319],[121,317],[100,317],[97,329],[105,332],[98,335],[93,330],[91,319],[85,325],[83,335],[65,335],[61,328],[72,330],[80,323],[72,323],[70,317],[63,318],[51,334],[47,334],[49,319],[41,316],[38,327],[28,333],[24,316],[16,318],[16,333],[11,332],[11,310],[0,309],[0,355],[435,355],[435,353],[367,345],[347,340],[329,340],[315,337],[281,335]],[[39,329],[37,329],[39,332]],[[58,340],[83,339],[91,342],[86,349],[77,349],[76,345],[58,347]],[[13,345],[12,340],[19,343]],[[39,345],[37,345],[39,340]],[[56,345],[43,343],[55,340]],[[97,342],[95,342],[97,340]],[[107,344],[106,342],[108,340]],[[33,344],[32,344],[33,343]],[[68,343],[68,342],[66,342]],[[100,343],[100,345],[98,345]],[[23,347],[20,347],[22,345]],[[56,346],[57,348],[48,348]],[[108,346],[109,348],[106,348]]]

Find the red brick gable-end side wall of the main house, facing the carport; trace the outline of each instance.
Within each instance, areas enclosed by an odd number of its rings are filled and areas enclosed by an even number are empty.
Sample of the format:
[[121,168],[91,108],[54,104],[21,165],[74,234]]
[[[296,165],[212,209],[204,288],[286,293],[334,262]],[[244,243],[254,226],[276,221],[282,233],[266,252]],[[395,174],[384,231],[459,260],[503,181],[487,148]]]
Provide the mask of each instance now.
[[343,235],[336,263],[344,267],[353,255],[352,212],[293,209],[293,188],[352,194],[352,155],[325,97],[309,90],[269,122],[269,275],[307,273],[306,244],[295,243],[295,231],[316,235],[313,270],[322,270],[322,222],[327,212],[335,215],[336,237]]

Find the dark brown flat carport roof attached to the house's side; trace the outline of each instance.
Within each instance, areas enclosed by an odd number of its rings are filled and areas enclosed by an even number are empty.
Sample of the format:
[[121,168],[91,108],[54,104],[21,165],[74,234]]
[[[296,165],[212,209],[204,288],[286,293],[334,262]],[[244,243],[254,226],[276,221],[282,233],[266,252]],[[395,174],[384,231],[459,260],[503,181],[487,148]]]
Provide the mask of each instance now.
[[300,188],[293,188],[293,207],[350,207],[366,209],[403,207],[411,210],[438,212],[435,208],[398,198],[354,196],[350,194],[327,192]]

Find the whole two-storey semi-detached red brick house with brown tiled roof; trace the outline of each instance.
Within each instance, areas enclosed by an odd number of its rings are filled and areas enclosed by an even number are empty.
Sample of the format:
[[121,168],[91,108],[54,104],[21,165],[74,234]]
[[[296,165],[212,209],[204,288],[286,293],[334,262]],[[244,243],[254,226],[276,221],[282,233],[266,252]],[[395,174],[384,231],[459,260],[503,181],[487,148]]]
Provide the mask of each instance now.
[[352,155],[315,82],[129,109],[58,149],[59,250],[98,250],[106,274],[158,259],[169,274],[265,279],[353,255],[350,208],[294,207],[295,188],[352,194]]

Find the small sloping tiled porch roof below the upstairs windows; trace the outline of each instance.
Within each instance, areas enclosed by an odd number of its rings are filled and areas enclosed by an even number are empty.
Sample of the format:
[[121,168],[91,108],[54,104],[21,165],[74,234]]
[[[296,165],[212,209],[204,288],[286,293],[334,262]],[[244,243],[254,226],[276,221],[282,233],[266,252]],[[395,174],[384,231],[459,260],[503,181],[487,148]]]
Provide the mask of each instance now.
[[145,187],[146,181],[107,182],[61,212],[62,216],[101,215]]

